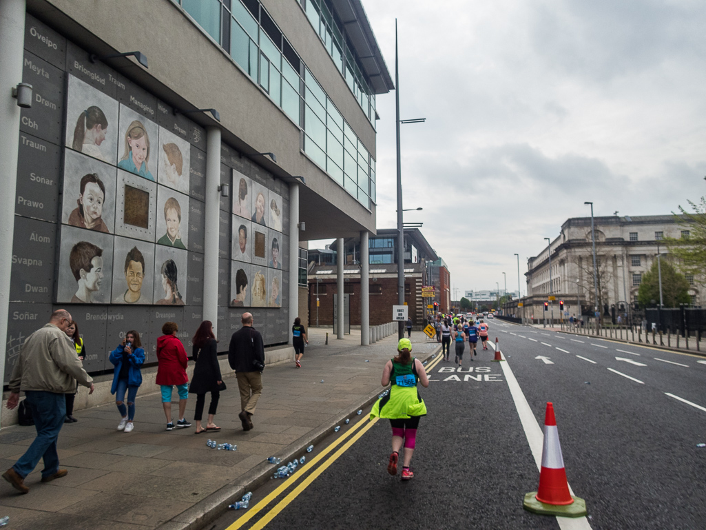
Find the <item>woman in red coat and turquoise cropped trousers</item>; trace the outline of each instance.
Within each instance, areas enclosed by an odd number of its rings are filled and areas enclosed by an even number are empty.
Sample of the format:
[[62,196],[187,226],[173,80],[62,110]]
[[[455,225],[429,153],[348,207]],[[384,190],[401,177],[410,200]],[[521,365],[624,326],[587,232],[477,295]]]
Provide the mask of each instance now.
[[177,387],[179,392],[179,418],[178,428],[191,427],[191,423],[184,418],[186,399],[189,397],[189,377],[186,375],[186,356],[184,345],[177,337],[179,326],[176,322],[166,322],[162,326],[162,335],[157,338],[157,377],[155,383],[162,388],[162,406],[164,416],[167,416],[167,430],[174,429],[172,423],[172,389]]

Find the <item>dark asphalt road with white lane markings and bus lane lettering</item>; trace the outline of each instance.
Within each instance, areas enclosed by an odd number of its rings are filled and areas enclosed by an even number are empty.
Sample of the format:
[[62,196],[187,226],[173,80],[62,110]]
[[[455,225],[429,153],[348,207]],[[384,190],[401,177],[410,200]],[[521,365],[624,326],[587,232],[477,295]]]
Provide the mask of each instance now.
[[[460,369],[429,364],[431,384],[421,389],[429,415],[419,426],[412,481],[386,472],[388,422],[359,423],[363,416],[354,416],[306,455],[307,468],[287,479],[291,485],[270,481],[253,492],[249,510],[227,512],[215,530],[706,527],[706,448],[697,447],[706,442],[701,358],[497,320],[490,333],[507,361],[492,362],[489,348],[472,362],[466,353]],[[522,509],[525,493],[537,490],[542,452],[540,439],[532,453],[526,432],[531,438],[532,428],[544,425],[547,401],[554,403],[568,481],[585,499],[587,518]],[[273,502],[263,502],[285,486]]]

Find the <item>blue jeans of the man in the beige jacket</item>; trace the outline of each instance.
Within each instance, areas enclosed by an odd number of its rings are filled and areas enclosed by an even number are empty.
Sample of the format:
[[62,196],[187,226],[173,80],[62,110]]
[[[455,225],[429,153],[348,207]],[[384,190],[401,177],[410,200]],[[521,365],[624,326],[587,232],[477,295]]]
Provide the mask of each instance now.
[[25,391],[27,404],[32,410],[37,437],[25,454],[12,466],[22,478],[34,471],[40,459],[44,459],[42,478],[59,471],[59,455],[56,454],[56,439],[66,417],[66,397],[54,392]]

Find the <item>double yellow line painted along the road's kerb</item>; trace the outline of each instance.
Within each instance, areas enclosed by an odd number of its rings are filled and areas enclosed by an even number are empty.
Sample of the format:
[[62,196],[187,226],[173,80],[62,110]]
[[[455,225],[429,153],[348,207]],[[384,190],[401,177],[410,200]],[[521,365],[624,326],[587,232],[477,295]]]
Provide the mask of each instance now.
[[[441,355],[437,355],[436,359],[434,359],[431,363],[429,363],[428,366],[426,366],[425,370],[426,373],[431,372],[433,367],[435,367],[439,361],[441,360]],[[290,502],[292,502],[294,499],[296,499],[300,493],[302,493],[306,488],[311,485],[313,481],[316,480],[316,478],[321,475],[328,467],[333,464],[343,453],[345,453],[355,442],[359,440],[359,438],[364,435],[368,430],[377,423],[377,421],[380,418],[373,418],[372,420],[368,420],[367,417],[361,418],[358,423],[352,426],[347,432],[345,432],[344,435],[342,435],[338,440],[330,444],[328,447],[323,449],[323,451],[319,454],[316,455],[316,457],[313,457],[309,462],[304,464],[304,466],[301,466],[299,469],[299,473],[294,474],[293,476],[287,478],[287,480],[282,483],[282,485],[277,486],[273,492],[271,492],[269,495],[267,495],[263,500],[258,502],[255,506],[253,506],[250,510],[245,512],[239,519],[228,526],[226,530],[237,530],[241,528],[244,524],[250,521],[253,517],[255,517],[258,513],[263,511],[265,507],[267,507],[270,502],[273,502],[277,497],[282,495],[282,493],[285,493],[287,489],[289,489],[294,483],[297,483],[299,481],[299,478],[304,476],[304,474],[312,469],[316,464],[318,464],[321,460],[323,460],[327,454],[333,451],[338,445],[342,444],[348,437],[351,437],[350,440],[348,440],[345,444],[343,444],[340,449],[338,449],[334,454],[332,454],[321,466],[318,466],[318,468],[311,473],[311,475],[307,476],[299,485],[297,485],[296,488],[294,488],[285,498],[280,500],[280,502],[277,502],[277,505],[275,505],[272,510],[267,512],[262,519],[260,519],[256,524],[253,524],[251,526],[251,530],[260,530],[263,529],[270,521],[272,521],[275,517],[277,517],[282,510],[284,510]],[[367,425],[363,426],[366,422]],[[361,429],[361,427],[363,427]],[[359,430],[360,429],[360,430]],[[356,433],[356,431],[359,430],[359,432]],[[355,435],[354,435],[355,433]],[[353,436],[352,436],[353,435]]]

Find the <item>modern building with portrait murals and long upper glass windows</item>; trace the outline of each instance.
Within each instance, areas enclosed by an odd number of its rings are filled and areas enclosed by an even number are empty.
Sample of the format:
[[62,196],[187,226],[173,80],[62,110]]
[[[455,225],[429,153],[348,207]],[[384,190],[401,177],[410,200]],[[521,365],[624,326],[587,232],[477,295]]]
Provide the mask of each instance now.
[[287,345],[306,241],[376,230],[394,87],[360,0],[0,0],[0,79],[5,382],[58,308],[89,372],[131,329],[154,363],[167,321]]

